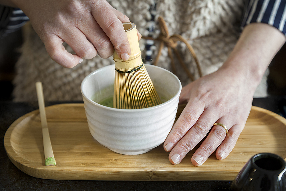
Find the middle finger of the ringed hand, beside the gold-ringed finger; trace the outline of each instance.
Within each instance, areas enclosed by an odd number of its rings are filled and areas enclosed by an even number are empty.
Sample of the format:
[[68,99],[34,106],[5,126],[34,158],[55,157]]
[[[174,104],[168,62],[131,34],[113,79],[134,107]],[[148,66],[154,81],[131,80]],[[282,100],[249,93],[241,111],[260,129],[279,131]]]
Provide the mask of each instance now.
[[205,109],[199,119],[188,130],[184,137],[174,146],[169,154],[169,160],[172,164],[178,164],[185,155],[192,150],[208,133],[217,115]]

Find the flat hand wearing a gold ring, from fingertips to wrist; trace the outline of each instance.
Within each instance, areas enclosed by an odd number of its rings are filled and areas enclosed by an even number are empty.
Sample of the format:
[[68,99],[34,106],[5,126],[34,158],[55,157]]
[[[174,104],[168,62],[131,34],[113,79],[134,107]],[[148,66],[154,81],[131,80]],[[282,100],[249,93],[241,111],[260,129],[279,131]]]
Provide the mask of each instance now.
[[[202,165],[217,149],[216,157],[227,157],[243,130],[249,115],[255,87],[228,68],[204,76],[182,88],[179,103],[188,101],[169,133],[164,148],[169,160],[178,164],[209,132],[194,152],[191,162]],[[214,123],[226,125],[226,130]]]

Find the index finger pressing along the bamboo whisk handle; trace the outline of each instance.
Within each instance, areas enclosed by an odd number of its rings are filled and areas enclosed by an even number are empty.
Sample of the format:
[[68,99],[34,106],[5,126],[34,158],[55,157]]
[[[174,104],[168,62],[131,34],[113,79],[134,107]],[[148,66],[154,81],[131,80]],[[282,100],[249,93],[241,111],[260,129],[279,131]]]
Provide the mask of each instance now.
[[96,1],[92,7],[92,15],[113,44],[114,50],[122,60],[128,60],[130,45],[122,22],[106,3]]

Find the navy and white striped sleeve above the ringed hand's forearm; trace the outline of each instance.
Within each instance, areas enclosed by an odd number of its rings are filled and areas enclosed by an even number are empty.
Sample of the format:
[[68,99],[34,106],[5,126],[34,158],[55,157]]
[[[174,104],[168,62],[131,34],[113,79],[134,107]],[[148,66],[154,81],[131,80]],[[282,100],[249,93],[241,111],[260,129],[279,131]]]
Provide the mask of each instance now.
[[267,23],[286,34],[286,0],[249,0],[241,28],[249,23]]

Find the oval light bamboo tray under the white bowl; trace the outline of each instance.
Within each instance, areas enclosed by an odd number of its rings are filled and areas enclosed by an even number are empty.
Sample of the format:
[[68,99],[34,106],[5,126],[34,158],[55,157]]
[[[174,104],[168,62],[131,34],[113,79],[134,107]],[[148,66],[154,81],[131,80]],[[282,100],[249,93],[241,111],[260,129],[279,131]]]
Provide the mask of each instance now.
[[[178,113],[182,108],[178,109]],[[252,107],[246,126],[230,155],[217,160],[214,153],[193,166],[193,150],[178,165],[170,164],[162,145],[141,155],[121,155],[91,136],[83,104],[46,107],[51,143],[57,165],[45,166],[39,110],[17,119],[7,130],[4,146],[21,171],[55,180],[234,180],[251,156],[271,152],[286,158],[286,119]],[[195,148],[196,149],[196,148]]]

